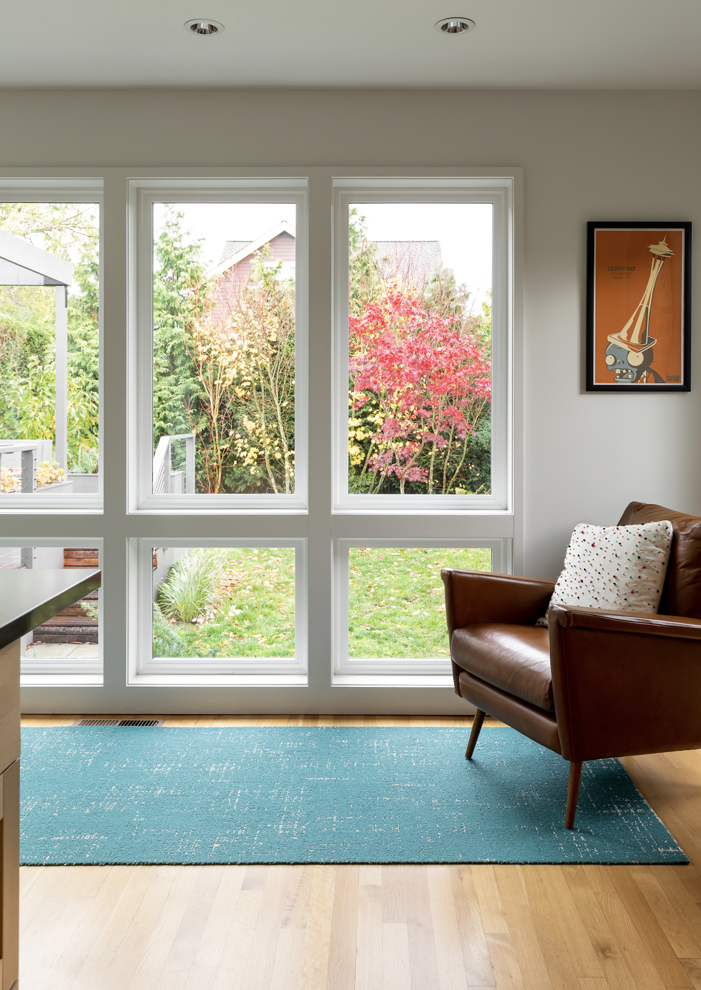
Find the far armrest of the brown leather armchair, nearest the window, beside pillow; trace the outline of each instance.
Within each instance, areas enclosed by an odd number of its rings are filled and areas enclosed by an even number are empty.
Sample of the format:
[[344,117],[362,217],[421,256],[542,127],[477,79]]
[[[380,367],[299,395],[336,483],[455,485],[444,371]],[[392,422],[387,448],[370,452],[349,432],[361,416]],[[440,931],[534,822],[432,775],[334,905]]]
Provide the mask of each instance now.
[[546,614],[554,588],[553,581],[452,567],[444,567],[441,577],[450,640],[453,630],[473,623],[534,626]]

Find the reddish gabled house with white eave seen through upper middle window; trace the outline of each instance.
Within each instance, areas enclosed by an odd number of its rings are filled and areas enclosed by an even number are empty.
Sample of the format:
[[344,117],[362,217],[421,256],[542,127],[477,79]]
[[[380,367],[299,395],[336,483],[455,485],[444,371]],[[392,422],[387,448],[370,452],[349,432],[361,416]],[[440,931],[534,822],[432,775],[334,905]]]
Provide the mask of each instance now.
[[230,307],[234,305],[241,286],[250,279],[250,271],[256,251],[268,248],[267,263],[276,265],[279,261],[280,278],[294,278],[295,274],[295,229],[285,220],[271,230],[261,234],[254,241],[227,241],[219,263],[205,273],[205,278],[216,279],[215,299],[212,320],[218,323],[226,319]]

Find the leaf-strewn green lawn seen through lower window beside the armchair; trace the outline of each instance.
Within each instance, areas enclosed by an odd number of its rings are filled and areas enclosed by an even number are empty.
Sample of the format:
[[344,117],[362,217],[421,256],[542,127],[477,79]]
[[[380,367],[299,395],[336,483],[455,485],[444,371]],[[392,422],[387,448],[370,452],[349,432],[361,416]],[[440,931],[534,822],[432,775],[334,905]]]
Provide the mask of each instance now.
[[442,567],[491,570],[491,550],[350,549],[350,657],[447,657]]

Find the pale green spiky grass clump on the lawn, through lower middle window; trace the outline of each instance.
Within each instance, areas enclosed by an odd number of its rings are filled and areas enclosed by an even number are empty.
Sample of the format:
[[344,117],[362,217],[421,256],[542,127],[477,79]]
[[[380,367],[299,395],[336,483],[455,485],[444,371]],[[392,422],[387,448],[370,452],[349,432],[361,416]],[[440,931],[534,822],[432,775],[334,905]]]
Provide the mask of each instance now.
[[222,552],[205,547],[177,560],[158,588],[158,603],[166,619],[192,622],[214,608],[220,597]]

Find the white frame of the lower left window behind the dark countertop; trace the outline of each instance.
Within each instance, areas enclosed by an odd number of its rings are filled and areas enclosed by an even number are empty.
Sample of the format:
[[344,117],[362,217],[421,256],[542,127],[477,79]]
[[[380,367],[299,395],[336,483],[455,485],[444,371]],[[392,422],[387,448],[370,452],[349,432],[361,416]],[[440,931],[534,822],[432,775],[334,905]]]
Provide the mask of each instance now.
[[[103,541],[99,537],[38,537],[34,536],[13,536],[1,537],[0,546],[95,546],[98,552],[98,567],[102,569],[102,545]],[[87,573],[88,568],[85,568]],[[79,576],[81,570],[75,568]],[[99,597],[102,605],[102,590]],[[51,684],[60,680],[62,683],[80,683],[100,685],[103,680],[103,659],[102,659],[102,621],[103,609],[100,608],[97,620],[97,659],[89,657],[58,657],[54,660],[41,659],[39,657],[20,657],[20,684],[28,687],[33,684]]]

